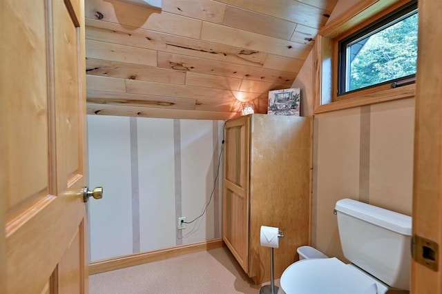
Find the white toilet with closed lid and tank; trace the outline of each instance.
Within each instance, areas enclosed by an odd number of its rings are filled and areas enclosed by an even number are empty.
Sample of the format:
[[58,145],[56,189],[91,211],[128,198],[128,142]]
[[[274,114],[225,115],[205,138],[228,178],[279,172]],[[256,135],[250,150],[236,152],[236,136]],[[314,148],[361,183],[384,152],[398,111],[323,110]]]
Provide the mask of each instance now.
[[412,218],[341,199],[338,215],[344,264],[336,257],[308,258],[291,264],[280,284],[287,294],[385,294],[410,290]]

